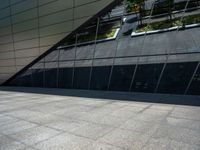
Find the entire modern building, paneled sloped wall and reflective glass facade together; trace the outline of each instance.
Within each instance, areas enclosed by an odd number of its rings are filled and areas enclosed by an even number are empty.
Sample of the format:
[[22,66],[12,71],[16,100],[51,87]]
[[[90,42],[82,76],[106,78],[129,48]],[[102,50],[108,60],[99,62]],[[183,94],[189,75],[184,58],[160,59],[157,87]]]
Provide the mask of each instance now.
[[5,2],[1,82],[200,95],[199,1],[167,1]]

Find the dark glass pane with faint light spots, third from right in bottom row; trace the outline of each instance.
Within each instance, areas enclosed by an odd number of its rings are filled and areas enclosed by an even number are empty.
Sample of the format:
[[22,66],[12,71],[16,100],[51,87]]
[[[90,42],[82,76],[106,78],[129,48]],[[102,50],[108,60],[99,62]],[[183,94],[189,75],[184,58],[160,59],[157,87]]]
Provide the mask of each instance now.
[[154,92],[163,64],[139,65],[136,71],[132,91]]

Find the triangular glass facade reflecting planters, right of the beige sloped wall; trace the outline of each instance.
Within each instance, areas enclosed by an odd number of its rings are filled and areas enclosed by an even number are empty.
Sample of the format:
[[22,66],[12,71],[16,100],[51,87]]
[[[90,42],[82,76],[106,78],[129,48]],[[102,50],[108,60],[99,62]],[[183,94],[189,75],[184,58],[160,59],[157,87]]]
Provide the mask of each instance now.
[[[184,7],[178,16],[156,22],[154,15],[164,15],[171,6],[163,4],[167,9],[162,12],[158,2],[155,8],[148,5],[145,14],[153,12],[150,17],[129,14],[133,9],[120,4],[117,11],[66,38],[8,85],[200,95],[200,30],[191,28],[200,23],[198,12],[191,16]],[[173,5],[178,9],[183,3]],[[188,6],[195,7],[193,2]]]

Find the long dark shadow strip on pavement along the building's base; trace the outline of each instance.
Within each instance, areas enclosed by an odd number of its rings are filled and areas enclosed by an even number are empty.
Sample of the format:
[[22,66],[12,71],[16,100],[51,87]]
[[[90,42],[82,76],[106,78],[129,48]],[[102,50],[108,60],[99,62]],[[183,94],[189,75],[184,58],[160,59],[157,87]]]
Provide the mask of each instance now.
[[89,91],[89,90],[49,89],[49,88],[30,88],[30,87],[28,88],[0,87],[0,91],[200,106],[200,96],[190,96],[190,95]]

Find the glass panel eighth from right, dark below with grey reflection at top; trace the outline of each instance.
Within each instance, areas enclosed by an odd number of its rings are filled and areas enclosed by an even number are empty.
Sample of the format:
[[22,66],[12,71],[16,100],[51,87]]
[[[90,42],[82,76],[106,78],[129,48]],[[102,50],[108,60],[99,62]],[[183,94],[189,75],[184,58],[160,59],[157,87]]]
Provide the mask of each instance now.
[[45,63],[45,87],[57,87],[58,63]]

